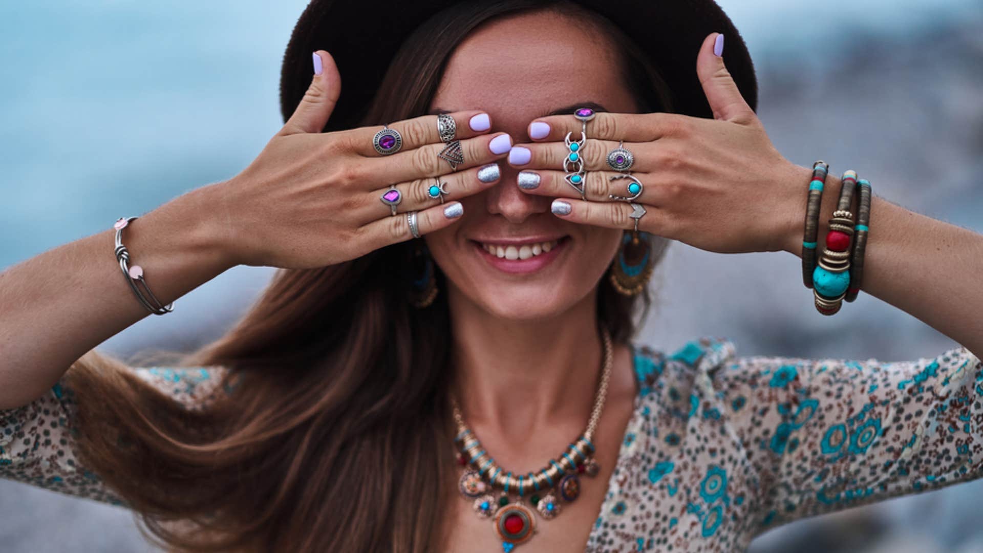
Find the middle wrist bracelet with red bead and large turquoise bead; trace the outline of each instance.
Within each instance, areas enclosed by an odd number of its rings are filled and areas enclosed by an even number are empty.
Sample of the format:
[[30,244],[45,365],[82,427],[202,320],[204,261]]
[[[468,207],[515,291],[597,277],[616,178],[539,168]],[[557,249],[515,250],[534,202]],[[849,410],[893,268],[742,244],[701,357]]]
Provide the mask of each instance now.
[[839,311],[850,283],[850,241],[853,236],[850,208],[856,178],[856,171],[852,170],[845,171],[840,178],[837,211],[830,219],[826,248],[819,260],[819,267],[812,275],[816,310],[823,315],[834,315]]

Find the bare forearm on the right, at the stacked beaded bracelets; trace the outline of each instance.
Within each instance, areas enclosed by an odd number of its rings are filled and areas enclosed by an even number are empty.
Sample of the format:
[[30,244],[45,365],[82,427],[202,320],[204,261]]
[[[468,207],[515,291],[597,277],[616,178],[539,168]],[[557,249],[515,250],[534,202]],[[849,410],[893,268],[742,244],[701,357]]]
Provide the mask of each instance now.
[[[793,215],[797,222],[790,223],[785,248],[798,257],[802,256],[806,183],[812,176],[811,167],[800,168],[801,195]],[[870,180],[874,194],[861,290],[983,358],[983,235],[897,206],[877,196],[877,181]],[[839,186],[839,177],[830,174],[819,217],[818,253],[836,210]]]

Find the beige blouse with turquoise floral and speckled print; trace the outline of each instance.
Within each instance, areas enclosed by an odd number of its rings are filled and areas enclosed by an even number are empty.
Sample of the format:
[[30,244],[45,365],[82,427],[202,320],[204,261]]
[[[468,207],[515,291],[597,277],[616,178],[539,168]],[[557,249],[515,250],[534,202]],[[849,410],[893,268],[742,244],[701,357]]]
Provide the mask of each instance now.
[[[638,384],[587,553],[740,551],[804,517],[983,475],[983,363],[736,357],[632,345]],[[194,408],[220,367],[137,368]],[[0,477],[126,504],[76,459],[72,391],[0,410]],[[523,547],[523,546],[520,546]]]

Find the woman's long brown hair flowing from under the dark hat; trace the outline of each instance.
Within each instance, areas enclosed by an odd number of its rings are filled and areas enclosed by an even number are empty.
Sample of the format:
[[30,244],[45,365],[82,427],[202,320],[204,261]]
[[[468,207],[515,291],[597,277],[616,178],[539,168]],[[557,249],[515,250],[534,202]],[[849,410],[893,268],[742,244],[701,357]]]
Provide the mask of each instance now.
[[[671,111],[657,69],[607,19],[568,2],[460,2],[406,41],[364,124],[427,113],[450,53],[471,31],[544,7],[614,43],[641,110]],[[656,262],[665,243],[653,241]],[[181,551],[437,547],[443,492],[434,483],[454,470],[452,330],[446,294],[425,309],[407,302],[409,248],[279,270],[230,332],[174,365],[220,371],[221,385],[198,408],[95,350],[72,365],[80,457],[140,516],[148,539]],[[600,323],[622,343],[650,304],[648,291],[625,297],[607,278],[597,298]]]

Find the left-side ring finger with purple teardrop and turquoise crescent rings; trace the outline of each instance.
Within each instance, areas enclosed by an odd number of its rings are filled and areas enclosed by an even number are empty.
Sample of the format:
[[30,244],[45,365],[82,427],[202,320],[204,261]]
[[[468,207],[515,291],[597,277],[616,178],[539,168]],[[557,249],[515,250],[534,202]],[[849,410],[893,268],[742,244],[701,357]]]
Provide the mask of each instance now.
[[[488,163],[463,172],[399,183],[396,185],[399,198],[399,203],[396,204],[396,213],[423,210],[434,206],[434,204],[466,198],[491,188],[500,177],[501,168],[498,163]],[[367,205],[371,206],[371,209],[365,210],[367,221],[383,215],[392,215],[392,208],[381,200],[386,195],[389,195],[387,199],[394,196],[391,188],[386,187],[370,193],[371,198]]]

